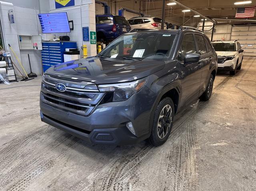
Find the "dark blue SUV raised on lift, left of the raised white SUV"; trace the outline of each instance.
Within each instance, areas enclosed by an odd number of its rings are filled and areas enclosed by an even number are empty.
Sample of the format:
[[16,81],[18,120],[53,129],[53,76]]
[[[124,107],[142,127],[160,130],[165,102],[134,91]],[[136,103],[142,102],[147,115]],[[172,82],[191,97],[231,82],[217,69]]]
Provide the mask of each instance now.
[[125,17],[112,14],[96,15],[97,42],[108,44],[130,30],[131,26]]

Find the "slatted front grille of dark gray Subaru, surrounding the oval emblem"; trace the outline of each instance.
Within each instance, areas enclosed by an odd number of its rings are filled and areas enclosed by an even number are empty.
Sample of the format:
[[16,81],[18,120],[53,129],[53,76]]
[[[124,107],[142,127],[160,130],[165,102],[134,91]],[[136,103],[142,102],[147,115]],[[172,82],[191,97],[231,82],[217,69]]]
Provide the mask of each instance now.
[[[57,83],[67,83],[67,81],[60,78],[51,78],[50,80],[50,83],[48,79],[44,79],[42,82],[41,101],[53,107],[88,116],[101,100],[104,100],[105,93],[100,93],[97,90],[87,91],[86,89],[67,88],[66,91],[60,92],[55,85]],[[68,84],[72,85],[70,81],[68,81]],[[74,84],[86,86],[91,83],[76,81]]]

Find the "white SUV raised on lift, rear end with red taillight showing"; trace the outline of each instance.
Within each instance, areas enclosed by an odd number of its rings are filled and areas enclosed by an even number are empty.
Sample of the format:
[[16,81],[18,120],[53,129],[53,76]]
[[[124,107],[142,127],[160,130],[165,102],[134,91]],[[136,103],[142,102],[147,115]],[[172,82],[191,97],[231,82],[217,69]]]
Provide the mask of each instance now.
[[[157,17],[133,17],[128,20],[131,29],[160,30],[162,19]],[[166,29],[166,24],[164,24]]]

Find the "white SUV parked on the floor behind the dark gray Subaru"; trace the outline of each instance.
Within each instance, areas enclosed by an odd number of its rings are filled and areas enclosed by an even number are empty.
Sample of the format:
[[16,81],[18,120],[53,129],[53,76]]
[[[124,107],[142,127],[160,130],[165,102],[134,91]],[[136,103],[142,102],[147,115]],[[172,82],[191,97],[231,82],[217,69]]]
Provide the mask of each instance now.
[[218,54],[218,70],[228,70],[235,75],[236,70],[242,67],[244,50],[240,43],[235,41],[213,41],[212,45]]

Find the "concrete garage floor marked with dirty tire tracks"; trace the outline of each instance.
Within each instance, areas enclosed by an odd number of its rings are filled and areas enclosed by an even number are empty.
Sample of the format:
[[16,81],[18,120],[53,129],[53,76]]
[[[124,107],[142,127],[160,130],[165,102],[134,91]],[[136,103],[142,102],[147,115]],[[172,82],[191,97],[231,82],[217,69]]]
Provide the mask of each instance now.
[[158,148],[91,145],[44,124],[39,93],[40,78],[0,84],[0,190],[256,190],[256,57],[219,73]]

